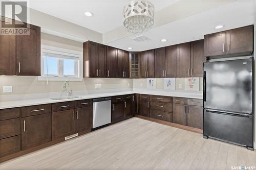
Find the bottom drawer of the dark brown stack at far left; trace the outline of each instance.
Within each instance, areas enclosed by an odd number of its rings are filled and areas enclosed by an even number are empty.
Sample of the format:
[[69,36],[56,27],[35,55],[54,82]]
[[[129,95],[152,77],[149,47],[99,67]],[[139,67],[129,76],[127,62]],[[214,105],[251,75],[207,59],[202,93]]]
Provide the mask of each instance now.
[[0,158],[20,151],[20,136],[0,140]]

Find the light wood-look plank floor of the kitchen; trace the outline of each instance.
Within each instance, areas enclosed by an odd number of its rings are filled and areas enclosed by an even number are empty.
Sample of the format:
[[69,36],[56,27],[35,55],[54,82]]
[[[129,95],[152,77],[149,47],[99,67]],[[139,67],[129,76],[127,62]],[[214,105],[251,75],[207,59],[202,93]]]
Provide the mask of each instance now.
[[256,152],[133,117],[0,164],[0,169],[231,169]]

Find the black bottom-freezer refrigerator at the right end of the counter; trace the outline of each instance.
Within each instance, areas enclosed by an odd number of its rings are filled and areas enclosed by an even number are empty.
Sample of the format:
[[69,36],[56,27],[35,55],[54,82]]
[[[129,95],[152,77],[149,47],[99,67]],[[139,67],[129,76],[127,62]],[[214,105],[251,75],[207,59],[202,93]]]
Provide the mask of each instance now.
[[203,66],[204,138],[253,150],[253,58]]

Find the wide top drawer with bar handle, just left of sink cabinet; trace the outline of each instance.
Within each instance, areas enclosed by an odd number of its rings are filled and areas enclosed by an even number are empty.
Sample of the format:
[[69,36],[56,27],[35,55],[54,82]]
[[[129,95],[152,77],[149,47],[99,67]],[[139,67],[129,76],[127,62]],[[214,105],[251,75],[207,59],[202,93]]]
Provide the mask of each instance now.
[[51,113],[51,104],[22,107],[22,117]]

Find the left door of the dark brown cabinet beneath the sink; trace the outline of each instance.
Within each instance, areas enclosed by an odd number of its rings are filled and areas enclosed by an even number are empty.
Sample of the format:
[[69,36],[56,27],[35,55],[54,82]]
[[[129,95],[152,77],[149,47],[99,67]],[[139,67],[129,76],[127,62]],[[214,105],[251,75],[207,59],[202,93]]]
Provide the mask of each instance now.
[[52,140],[75,134],[74,109],[52,113]]

